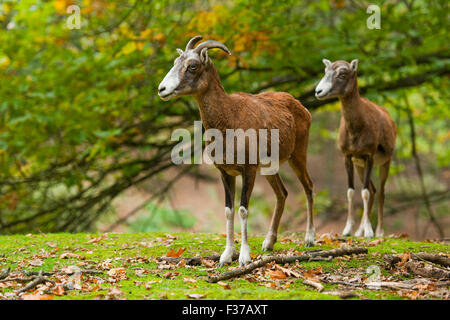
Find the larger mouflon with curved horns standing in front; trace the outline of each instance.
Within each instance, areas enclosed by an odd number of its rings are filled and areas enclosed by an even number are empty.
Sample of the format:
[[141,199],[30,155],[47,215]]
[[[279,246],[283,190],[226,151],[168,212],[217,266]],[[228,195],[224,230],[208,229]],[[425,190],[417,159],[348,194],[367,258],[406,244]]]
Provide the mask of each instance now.
[[[313,226],[313,183],[306,169],[311,114],[290,94],[285,92],[264,92],[260,94],[227,94],[222,87],[219,75],[208,56],[208,50],[219,48],[230,54],[228,48],[215,40],[195,44],[201,36],[192,38],[185,50],[177,49],[179,57],[167,73],[158,88],[161,99],[180,96],[193,96],[198,103],[200,116],[205,130],[214,128],[226,136],[227,129],[278,129],[279,162],[288,161],[302,183],[308,200],[306,245],[313,245],[315,231]],[[208,144],[208,142],[206,142]],[[224,145],[223,152],[226,153]],[[259,144],[257,146],[259,148]],[[269,147],[268,147],[269,148]],[[246,148],[248,150],[248,148]],[[234,149],[234,151],[236,151]],[[246,151],[247,152],[247,151]],[[247,157],[246,157],[247,159]],[[241,250],[239,264],[251,261],[250,247],[247,242],[248,204],[255,177],[261,164],[248,162],[223,163],[214,165],[219,169],[225,189],[225,217],[227,220],[227,240],[219,265],[230,263],[235,252],[234,247],[234,196],[236,176],[242,176],[242,194],[239,207],[241,220]],[[283,214],[287,197],[286,188],[278,173],[266,175],[277,203],[272,216],[269,232],[263,242],[264,250],[272,250],[277,240],[277,230]]]

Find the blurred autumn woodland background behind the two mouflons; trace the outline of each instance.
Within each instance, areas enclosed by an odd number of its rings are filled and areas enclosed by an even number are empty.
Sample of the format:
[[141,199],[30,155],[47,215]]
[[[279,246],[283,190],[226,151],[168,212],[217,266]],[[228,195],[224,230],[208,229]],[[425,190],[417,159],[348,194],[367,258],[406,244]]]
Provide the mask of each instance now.
[[[380,29],[368,28],[371,4]],[[170,160],[171,132],[193,130],[196,103],[157,96],[175,49],[200,34],[232,51],[209,53],[227,92],[287,91],[311,111],[319,233],[342,231],[347,183],[339,102],[313,90],[323,58],[359,59],[361,94],[398,127],[385,234],[448,237],[449,21],[447,0],[0,1],[0,234],[225,232],[218,171]],[[280,229],[303,231],[303,189],[290,168],[281,175]],[[258,177],[251,234],[267,231],[274,205]]]

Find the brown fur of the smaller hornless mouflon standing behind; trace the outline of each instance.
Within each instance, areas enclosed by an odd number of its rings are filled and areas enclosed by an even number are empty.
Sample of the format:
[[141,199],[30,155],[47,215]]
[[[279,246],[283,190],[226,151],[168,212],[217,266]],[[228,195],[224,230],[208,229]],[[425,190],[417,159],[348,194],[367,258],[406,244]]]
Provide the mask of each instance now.
[[397,129],[384,107],[360,97],[356,70],[352,70],[348,62],[338,60],[328,68],[335,72],[332,89],[325,98],[337,96],[341,101],[338,144],[346,159],[349,188],[354,188],[353,167],[356,167],[364,188],[370,191],[369,214],[376,192],[370,173],[373,165],[380,166],[380,203],[376,233],[381,235],[384,185],[394,153]]

